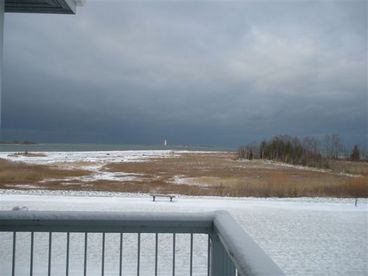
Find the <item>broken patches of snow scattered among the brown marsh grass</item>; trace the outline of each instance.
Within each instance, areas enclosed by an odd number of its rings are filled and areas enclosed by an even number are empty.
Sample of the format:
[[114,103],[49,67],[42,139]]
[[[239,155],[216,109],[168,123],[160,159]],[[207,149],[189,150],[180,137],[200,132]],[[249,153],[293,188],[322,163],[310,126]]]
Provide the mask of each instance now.
[[[218,152],[206,152],[206,151],[179,151],[179,150],[126,150],[126,151],[66,151],[66,152],[32,152],[25,155],[17,152],[0,152],[0,158],[15,161],[25,162],[28,164],[38,165],[51,165],[57,166],[62,169],[83,169],[90,171],[91,174],[86,176],[76,176],[63,179],[45,179],[43,182],[65,182],[64,185],[74,185],[73,182],[93,182],[93,181],[145,181],[145,177],[142,174],[131,174],[124,172],[110,172],[106,171],[105,165],[110,163],[121,162],[146,162],[154,158],[168,158],[179,157],[183,153],[207,153],[214,154]],[[353,175],[348,173],[336,173],[331,170],[323,170],[311,167],[303,167],[285,164],[281,162],[273,161],[249,161],[239,160],[240,167],[255,167],[255,168],[267,168],[278,169],[280,167],[289,167],[298,170],[308,170],[316,172],[324,172],[331,174],[344,175],[349,177],[359,177],[360,175]],[[68,183],[71,182],[71,183]],[[188,178],[185,176],[173,177],[172,183],[175,184],[189,184],[193,186],[206,187],[208,184],[201,183],[196,178]],[[6,187],[14,188],[20,187],[20,185],[7,184]],[[25,183],[22,185],[23,189],[42,189],[42,185],[28,185]]]

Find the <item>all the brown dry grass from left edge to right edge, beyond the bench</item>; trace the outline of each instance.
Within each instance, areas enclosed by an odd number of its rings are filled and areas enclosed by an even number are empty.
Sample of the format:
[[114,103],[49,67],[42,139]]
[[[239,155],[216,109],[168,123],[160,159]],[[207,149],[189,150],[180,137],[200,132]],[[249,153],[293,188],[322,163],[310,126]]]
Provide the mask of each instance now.
[[[111,163],[111,172],[141,174],[131,181],[49,181],[43,188],[53,190],[93,190],[112,192],[160,192],[186,195],[257,197],[368,197],[368,163],[333,161],[332,170],[299,169],[261,160],[237,161],[230,153],[185,153],[179,157],[147,162]],[[49,178],[63,179],[89,174],[80,164],[48,167],[0,160],[0,188],[4,183],[34,184]],[[83,164],[82,164],[83,165]],[[343,171],[345,170],[345,171]],[[355,172],[359,177],[340,174]],[[175,183],[175,176],[190,181]]]

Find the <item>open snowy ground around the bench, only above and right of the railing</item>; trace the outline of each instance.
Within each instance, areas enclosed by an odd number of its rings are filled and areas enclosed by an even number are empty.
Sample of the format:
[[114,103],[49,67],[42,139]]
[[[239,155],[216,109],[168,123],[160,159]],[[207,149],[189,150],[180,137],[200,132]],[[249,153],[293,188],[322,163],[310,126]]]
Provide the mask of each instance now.
[[[368,275],[367,207],[367,199],[359,199],[358,206],[355,207],[354,199],[335,198],[178,196],[171,203],[167,199],[152,202],[151,197],[144,194],[65,191],[30,193],[12,190],[0,192],[0,210],[13,208],[96,212],[228,210],[287,275]],[[165,240],[165,237],[163,239]],[[9,243],[9,238],[3,237],[0,245],[6,242]],[[3,258],[6,253],[5,249],[1,248],[0,267],[7,259]],[[163,252],[170,250],[164,249]],[[205,262],[206,258],[199,256],[199,260]],[[165,261],[162,258],[160,262]],[[165,263],[161,265],[165,266]],[[205,264],[199,264],[198,267],[201,265]],[[166,274],[162,272],[160,275]],[[195,275],[205,274],[198,272]]]

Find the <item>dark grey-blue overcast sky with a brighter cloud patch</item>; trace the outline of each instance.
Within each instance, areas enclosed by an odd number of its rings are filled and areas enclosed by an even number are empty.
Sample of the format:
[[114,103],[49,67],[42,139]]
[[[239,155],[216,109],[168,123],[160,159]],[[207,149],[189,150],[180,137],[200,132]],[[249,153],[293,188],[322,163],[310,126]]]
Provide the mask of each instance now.
[[3,136],[368,140],[367,1],[87,1],[6,14]]

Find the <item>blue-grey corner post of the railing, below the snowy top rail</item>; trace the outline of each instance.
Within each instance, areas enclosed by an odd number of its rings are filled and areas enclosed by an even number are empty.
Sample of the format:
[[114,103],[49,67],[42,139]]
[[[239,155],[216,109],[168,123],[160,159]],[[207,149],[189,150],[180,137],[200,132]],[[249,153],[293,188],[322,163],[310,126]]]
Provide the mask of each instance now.
[[211,235],[210,244],[210,275],[211,276],[234,276],[235,267],[222,245],[218,235],[214,232]]

